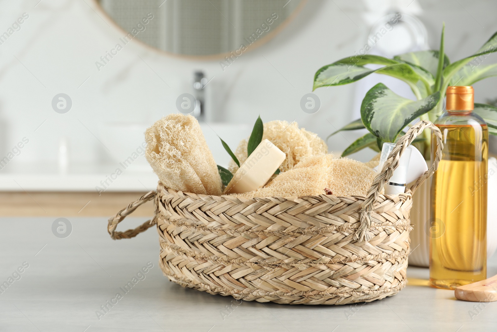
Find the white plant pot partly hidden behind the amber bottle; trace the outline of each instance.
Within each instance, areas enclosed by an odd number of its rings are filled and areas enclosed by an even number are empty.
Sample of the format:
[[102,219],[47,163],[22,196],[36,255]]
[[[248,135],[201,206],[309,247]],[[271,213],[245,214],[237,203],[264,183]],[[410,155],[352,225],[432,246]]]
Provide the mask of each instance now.
[[[429,166],[428,166],[429,167]],[[497,249],[497,159],[489,159],[487,194],[487,257]],[[430,219],[430,179],[424,181],[413,195],[411,209],[411,253],[409,265],[428,267],[430,243],[426,221]]]

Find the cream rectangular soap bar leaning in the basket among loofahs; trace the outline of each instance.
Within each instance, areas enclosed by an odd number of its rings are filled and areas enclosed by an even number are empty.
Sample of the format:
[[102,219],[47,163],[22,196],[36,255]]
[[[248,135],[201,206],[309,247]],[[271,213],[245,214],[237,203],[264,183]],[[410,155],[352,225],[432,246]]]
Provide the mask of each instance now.
[[233,175],[224,194],[243,194],[264,186],[285,158],[285,153],[264,139]]

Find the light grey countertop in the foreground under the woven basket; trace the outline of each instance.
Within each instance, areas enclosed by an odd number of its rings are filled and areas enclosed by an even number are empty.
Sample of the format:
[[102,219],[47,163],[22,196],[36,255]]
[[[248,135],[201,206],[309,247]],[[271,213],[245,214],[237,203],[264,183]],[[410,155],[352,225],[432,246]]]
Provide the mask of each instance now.
[[[0,283],[28,265],[0,294],[0,331],[496,331],[497,302],[459,301],[453,291],[430,288],[425,268],[409,267],[407,287],[367,304],[241,302],[169,282],[158,266],[155,228],[114,241],[106,218],[69,219],[70,235],[59,238],[55,218],[0,218]],[[118,229],[143,221],[128,218]],[[147,264],[153,267],[124,293]],[[488,270],[497,274],[497,255]],[[116,293],[117,304],[97,315]]]

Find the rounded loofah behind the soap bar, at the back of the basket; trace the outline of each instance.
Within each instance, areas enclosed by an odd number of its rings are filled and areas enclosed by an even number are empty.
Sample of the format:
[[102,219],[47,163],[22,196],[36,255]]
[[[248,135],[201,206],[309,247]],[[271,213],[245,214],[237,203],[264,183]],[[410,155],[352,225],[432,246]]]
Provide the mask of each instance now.
[[[292,169],[302,158],[324,155],[328,153],[328,146],[317,134],[299,128],[297,122],[270,121],[264,123],[262,139],[268,139],[278,149],[286,154],[280,166],[282,172]],[[248,139],[243,139],[238,145],[235,155],[240,165],[247,159]],[[235,174],[238,165],[231,160],[228,169]]]

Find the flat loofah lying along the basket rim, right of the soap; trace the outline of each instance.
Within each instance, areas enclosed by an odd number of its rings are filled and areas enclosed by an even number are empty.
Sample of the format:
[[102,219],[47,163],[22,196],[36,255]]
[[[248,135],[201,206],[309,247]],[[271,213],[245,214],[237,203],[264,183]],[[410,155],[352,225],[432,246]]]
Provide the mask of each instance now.
[[291,170],[276,176],[265,187],[237,197],[291,197],[325,194],[366,196],[377,173],[366,164],[332,154],[305,157]]

